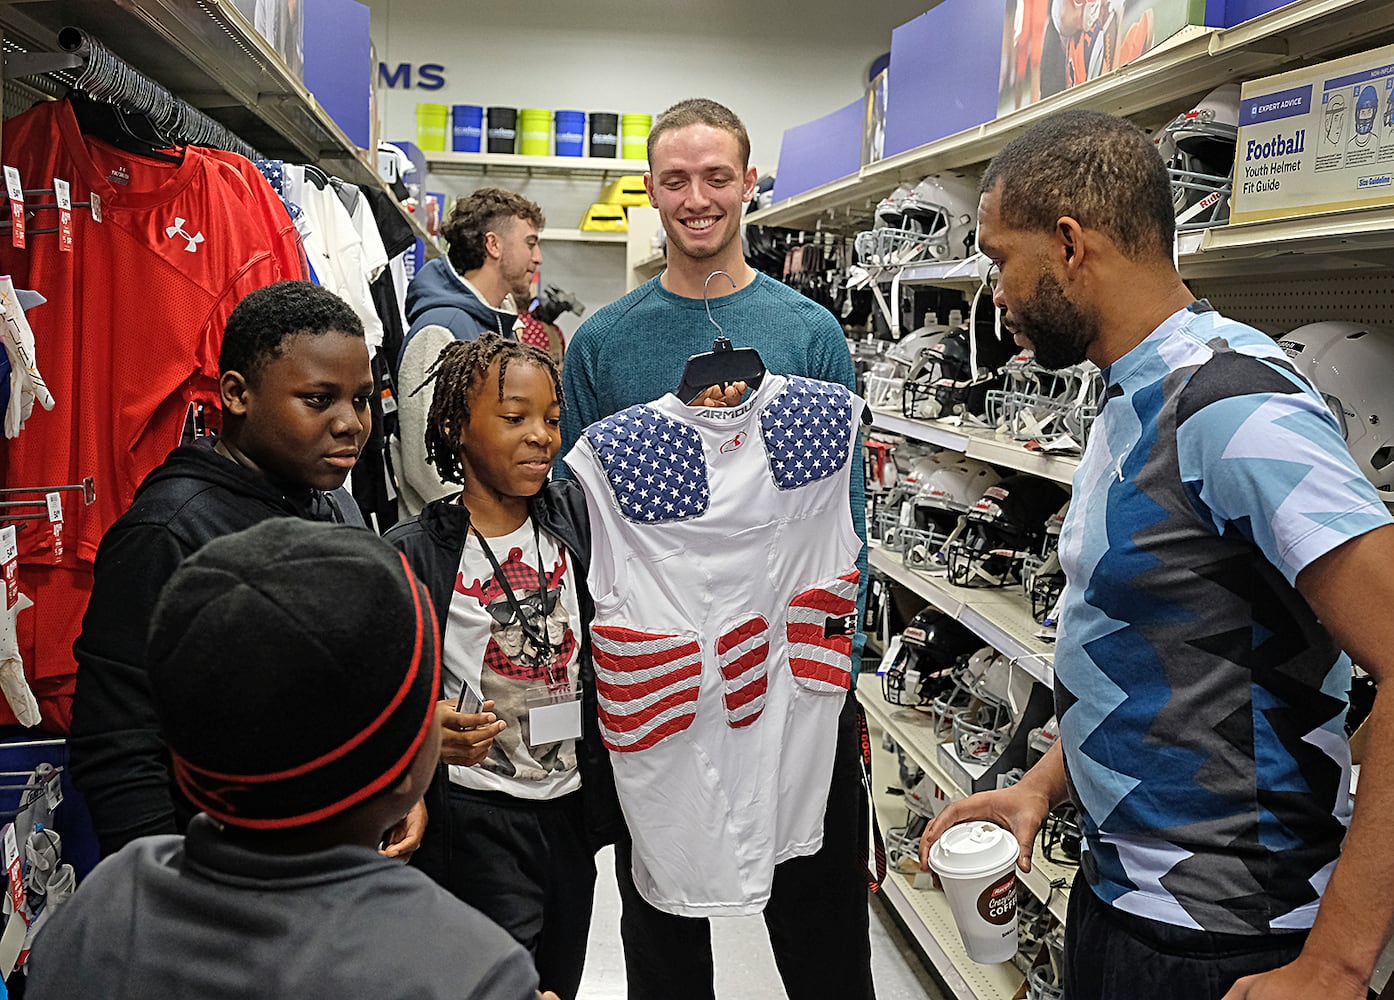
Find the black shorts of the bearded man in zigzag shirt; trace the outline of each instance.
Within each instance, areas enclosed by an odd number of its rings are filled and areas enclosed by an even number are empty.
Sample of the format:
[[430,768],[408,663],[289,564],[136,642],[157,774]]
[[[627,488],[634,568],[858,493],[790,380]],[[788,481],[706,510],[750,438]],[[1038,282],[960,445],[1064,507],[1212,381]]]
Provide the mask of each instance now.
[[1065,921],[1064,1000],[1220,1000],[1235,980],[1291,962],[1306,936],[1149,921],[1110,907],[1080,876]]

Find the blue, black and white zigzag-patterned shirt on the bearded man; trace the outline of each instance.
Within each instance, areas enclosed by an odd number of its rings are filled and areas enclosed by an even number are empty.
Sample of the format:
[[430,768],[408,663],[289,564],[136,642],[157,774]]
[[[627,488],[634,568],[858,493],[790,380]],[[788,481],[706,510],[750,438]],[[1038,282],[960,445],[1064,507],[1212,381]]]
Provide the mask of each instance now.
[[1390,515],[1278,344],[1204,303],[1104,378],[1059,545],[1082,869],[1165,923],[1309,927],[1349,820],[1351,661],[1294,582]]

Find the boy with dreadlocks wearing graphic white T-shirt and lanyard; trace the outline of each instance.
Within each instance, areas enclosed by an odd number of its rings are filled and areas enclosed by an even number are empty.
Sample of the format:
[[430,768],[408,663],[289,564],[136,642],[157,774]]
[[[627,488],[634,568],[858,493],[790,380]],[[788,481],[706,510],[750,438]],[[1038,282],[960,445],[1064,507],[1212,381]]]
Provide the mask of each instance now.
[[544,351],[484,333],[446,344],[425,385],[427,455],[460,492],[386,536],[425,582],[443,635],[449,781],[421,854],[443,854],[446,888],[533,953],[544,987],[572,997],[594,852],[620,819],[597,728],[584,501],[574,483],[548,483],[560,374]]

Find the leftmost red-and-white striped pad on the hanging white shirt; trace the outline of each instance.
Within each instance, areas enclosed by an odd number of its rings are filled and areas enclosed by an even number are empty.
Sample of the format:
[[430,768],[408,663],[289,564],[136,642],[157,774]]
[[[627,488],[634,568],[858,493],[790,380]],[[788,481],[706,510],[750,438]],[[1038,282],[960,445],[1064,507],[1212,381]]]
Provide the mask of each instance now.
[[619,753],[647,750],[693,724],[701,682],[694,632],[592,625],[591,649],[605,746]]

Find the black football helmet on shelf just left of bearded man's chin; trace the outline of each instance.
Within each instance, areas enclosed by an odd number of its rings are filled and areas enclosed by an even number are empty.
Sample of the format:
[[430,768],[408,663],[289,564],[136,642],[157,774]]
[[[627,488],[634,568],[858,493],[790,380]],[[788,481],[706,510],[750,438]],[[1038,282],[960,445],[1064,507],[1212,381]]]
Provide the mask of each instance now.
[[[987,393],[1002,385],[1002,364],[1011,350],[991,328],[958,326],[924,351],[917,372],[907,377],[902,414],[910,420],[987,414]],[[1012,349],[1015,350],[1015,349]]]

